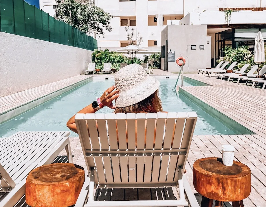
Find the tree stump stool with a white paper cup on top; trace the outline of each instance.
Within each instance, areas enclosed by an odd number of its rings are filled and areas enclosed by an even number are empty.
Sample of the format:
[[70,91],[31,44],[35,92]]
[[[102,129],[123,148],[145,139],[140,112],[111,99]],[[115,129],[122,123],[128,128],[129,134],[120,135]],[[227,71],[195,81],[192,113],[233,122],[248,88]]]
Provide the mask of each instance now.
[[225,166],[222,158],[207,157],[193,164],[193,184],[202,195],[201,207],[222,206],[223,201],[232,201],[233,207],[243,207],[243,199],[250,195],[250,168],[234,161]]

